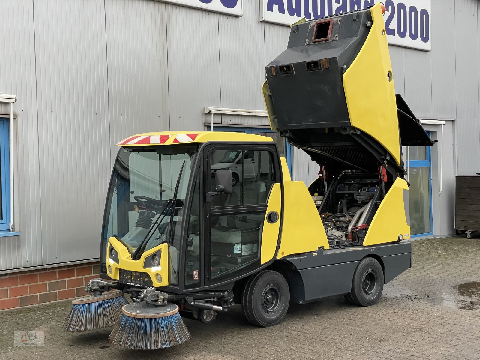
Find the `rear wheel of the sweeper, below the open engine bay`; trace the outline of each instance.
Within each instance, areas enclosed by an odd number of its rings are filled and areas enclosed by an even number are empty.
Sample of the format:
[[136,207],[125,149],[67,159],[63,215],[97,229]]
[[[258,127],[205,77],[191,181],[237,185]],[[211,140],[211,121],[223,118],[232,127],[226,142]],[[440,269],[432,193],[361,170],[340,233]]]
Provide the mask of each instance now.
[[375,305],[384,290],[384,271],[371,257],[358,264],[353,275],[352,292],[345,296],[349,303],[359,306]]

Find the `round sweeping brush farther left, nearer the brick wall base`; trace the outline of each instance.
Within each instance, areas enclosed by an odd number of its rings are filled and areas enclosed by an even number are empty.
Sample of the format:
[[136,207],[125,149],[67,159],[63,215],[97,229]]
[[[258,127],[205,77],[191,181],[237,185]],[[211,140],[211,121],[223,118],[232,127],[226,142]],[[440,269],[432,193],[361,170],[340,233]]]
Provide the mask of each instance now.
[[128,301],[123,292],[118,290],[73,300],[63,328],[78,333],[112,327],[120,319],[121,309],[126,304]]

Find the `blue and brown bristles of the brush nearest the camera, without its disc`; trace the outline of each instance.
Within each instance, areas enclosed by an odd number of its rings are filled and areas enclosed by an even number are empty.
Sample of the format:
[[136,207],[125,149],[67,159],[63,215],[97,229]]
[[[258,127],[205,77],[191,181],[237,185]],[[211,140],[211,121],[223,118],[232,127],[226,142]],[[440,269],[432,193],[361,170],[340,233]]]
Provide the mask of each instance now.
[[108,339],[132,350],[157,350],[179,346],[191,339],[180,314],[150,319],[122,315]]

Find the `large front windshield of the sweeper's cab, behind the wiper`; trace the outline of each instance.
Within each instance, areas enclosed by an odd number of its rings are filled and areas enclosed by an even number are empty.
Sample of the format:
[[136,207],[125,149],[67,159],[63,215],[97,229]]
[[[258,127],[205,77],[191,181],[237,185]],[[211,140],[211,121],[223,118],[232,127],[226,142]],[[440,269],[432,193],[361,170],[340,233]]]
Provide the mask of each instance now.
[[[170,236],[180,236],[181,210],[197,151],[197,144],[120,149],[108,189],[103,248],[110,237],[116,237],[133,254],[151,228],[156,230],[144,251],[163,242],[171,244]],[[164,211],[174,195],[183,163],[177,205],[173,210],[168,205],[167,211]],[[172,215],[173,225],[170,228]],[[172,250],[180,249],[174,246]],[[102,256],[105,256],[104,249]]]

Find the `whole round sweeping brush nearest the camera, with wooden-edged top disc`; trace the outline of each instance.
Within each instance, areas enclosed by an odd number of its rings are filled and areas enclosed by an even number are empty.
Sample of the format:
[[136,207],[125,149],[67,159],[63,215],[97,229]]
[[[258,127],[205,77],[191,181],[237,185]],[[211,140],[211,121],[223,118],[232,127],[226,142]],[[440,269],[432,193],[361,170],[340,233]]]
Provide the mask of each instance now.
[[122,317],[108,340],[132,350],[157,350],[179,346],[191,339],[175,304],[152,305],[144,301],[125,305]]

